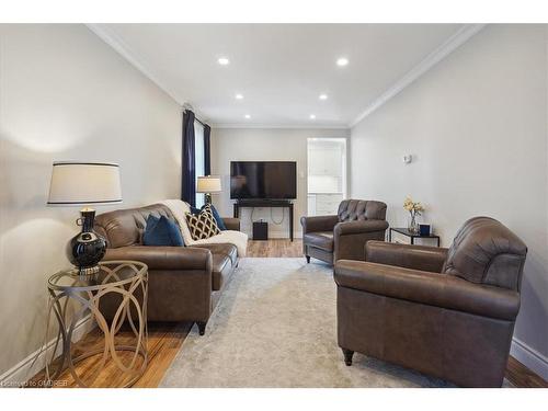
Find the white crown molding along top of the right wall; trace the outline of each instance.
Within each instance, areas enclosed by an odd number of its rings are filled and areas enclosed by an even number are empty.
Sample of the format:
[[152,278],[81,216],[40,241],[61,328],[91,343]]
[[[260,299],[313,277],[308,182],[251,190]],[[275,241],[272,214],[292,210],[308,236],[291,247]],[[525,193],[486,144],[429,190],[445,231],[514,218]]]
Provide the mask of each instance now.
[[473,35],[479,33],[486,24],[466,24],[459,28],[454,35],[447,38],[434,52],[429,54],[421,62],[413,67],[407,75],[400,78],[392,87],[380,94],[373,103],[370,103],[352,123],[349,127],[352,128],[373,112],[385,105],[393,96],[399,94],[403,89],[409,87],[432,67],[442,61],[445,57],[455,52],[463,44],[468,42]]

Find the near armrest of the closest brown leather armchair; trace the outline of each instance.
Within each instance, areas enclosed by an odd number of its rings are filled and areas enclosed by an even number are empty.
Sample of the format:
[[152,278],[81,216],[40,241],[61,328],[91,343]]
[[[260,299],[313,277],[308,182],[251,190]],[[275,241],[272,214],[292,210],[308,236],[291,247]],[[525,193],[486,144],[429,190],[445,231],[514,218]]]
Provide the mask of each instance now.
[[446,274],[341,260],[334,278],[341,287],[507,321],[520,309],[516,292]]

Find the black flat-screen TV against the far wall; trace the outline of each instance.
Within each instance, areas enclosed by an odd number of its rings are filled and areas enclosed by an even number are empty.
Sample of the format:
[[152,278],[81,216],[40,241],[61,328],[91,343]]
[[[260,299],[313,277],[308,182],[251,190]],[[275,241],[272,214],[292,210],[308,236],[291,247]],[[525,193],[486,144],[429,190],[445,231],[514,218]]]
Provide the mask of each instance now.
[[231,161],[230,198],[297,198],[297,163]]

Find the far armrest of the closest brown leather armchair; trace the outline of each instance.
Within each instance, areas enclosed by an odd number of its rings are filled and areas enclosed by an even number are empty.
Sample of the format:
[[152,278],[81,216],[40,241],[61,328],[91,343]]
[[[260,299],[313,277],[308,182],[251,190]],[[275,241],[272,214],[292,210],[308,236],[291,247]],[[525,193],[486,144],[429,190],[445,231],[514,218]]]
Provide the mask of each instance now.
[[404,269],[441,273],[447,258],[447,249],[438,247],[397,244],[385,241],[368,241],[365,244],[365,261]]

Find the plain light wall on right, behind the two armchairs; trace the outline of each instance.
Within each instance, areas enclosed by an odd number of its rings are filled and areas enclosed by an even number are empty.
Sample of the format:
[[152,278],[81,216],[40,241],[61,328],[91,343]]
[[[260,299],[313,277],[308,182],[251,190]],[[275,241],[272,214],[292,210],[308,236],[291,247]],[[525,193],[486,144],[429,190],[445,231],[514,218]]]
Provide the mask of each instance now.
[[[352,129],[351,193],[406,195],[448,246],[469,217],[492,216],[527,244],[513,355],[548,378],[547,35],[541,25],[486,27]],[[403,164],[402,156],[415,160]]]

